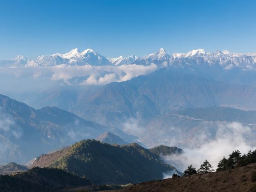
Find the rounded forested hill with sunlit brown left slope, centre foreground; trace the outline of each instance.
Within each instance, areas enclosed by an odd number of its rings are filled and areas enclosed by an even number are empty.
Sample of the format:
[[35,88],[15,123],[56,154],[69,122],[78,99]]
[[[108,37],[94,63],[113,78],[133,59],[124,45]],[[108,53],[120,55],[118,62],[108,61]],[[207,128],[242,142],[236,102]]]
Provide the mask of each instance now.
[[138,183],[161,179],[166,172],[178,172],[139,144],[110,145],[91,139],[41,155],[32,166],[60,168],[100,184]]

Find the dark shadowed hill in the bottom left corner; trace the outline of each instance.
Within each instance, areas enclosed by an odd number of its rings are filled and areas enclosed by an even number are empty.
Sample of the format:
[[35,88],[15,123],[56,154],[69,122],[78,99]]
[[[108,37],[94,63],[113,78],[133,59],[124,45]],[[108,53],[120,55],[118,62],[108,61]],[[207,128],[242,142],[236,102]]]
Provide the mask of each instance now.
[[29,171],[0,176],[1,192],[55,192],[66,187],[91,185],[88,179],[53,168],[34,167]]

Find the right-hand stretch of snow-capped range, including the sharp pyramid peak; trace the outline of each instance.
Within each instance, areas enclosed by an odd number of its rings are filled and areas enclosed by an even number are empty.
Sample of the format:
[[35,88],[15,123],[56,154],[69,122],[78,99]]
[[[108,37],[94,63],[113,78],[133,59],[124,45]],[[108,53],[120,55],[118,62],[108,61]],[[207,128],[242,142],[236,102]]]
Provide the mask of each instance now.
[[159,66],[176,68],[217,65],[224,69],[233,67],[252,69],[256,64],[256,53],[230,53],[229,51],[219,50],[208,53],[203,49],[194,49],[188,53],[173,53],[170,55],[163,48],[160,48],[158,52],[144,56],[134,63],[143,65],[154,63]]

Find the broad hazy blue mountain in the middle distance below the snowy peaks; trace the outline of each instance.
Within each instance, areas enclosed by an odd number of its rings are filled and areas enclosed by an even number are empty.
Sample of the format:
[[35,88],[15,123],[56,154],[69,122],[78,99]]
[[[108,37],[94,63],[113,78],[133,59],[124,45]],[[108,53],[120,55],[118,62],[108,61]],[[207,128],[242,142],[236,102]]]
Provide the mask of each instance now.
[[107,84],[80,100],[71,111],[105,125],[119,126],[127,119],[148,122],[173,110],[197,107],[234,107],[256,110],[256,87],[229,85],[161,69],[125,82]]

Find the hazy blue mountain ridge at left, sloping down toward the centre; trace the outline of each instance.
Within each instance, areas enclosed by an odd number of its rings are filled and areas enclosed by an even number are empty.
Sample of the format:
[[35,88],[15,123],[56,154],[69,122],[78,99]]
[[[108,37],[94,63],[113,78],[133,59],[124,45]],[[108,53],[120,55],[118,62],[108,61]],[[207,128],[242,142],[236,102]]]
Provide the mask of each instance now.
[[0,95],[0,164],[25,163],[42,153],[81,139],[93,139],[111,131],[136,142],[120,129],[86,121],[57,107],[35,110],[25,103]]

